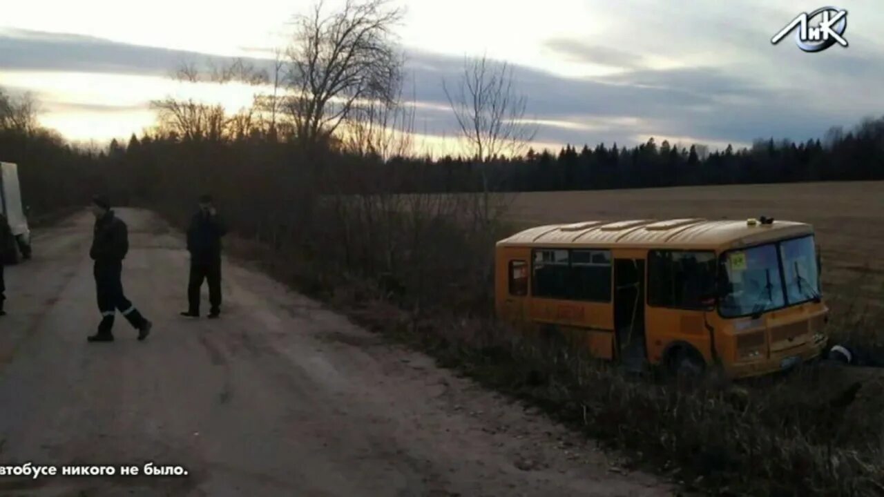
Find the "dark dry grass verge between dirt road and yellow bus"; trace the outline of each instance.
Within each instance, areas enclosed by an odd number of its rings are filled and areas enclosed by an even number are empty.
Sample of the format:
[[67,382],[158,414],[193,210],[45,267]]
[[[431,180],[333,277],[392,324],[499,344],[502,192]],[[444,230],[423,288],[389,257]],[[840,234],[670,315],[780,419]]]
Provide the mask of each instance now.
[[628,467],[717,495],[884,494],[884,381],[875,371],[865,371],[858,392],[856,375],[829,364],[766,384],[678,386],[630,378],[490,321],[418,320],[365,297],[364,289],[343,291],[333,302],[362,325],[617,449]]

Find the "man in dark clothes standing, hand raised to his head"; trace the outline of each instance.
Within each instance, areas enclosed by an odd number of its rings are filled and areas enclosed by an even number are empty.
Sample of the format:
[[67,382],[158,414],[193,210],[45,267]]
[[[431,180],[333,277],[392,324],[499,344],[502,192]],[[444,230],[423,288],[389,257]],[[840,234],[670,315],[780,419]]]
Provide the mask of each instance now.
[[210,195],[200,197],[200,210],[187,228],[187,251],[190,252],[190,281],[187,284],[187,311],[182,316],[200,316],[202,280],[209,280],[209,317],[221,313],[221,237],[227,233]]

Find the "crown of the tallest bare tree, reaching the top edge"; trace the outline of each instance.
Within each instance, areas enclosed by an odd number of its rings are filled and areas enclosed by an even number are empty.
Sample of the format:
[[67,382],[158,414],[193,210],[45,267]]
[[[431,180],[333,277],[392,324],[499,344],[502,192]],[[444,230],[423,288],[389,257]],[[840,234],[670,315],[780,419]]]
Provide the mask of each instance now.
[[327,142],[354,103],[396,97],[402,60],[391,28],[401,16],[388,0],[347,0],[328,16],[320,2],[294,19],[286,107],[302,144]]

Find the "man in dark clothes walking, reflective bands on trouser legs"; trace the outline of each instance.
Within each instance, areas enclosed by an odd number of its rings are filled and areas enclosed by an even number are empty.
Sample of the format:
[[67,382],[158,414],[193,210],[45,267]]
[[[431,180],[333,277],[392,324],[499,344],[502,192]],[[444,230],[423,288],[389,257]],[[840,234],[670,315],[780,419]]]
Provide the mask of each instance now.
[[114,215],[113,210],[110,210],[110,202],[103,195],[93,198],[92,213],[95,215],[95,234],[89,256],[95,261],[95,290],[102,322],[98,325],[98,333],[90,335],[88,340],[113,341],[111,329],[116,310],[138,330],[138,340],[144,340],[150,333],[152,324],[141,316],[141,312],[123,294],[123,259],[129,251],[126,223]]

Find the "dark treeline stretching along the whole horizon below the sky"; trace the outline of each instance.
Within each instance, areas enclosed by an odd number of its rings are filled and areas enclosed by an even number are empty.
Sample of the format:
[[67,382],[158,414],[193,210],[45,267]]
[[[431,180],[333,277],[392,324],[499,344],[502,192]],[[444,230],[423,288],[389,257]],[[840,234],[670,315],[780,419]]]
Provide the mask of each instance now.
[[[286,136],[259,133],[225,134],[215,139],[182,138],[159,131],[133,135],[127,143],[113,141],[106,151],[82,149],[36,124],[34,103],[0,91],[0,160],[21,164],[24,198],[36,213],[88,199],[90,191],[113,189],[124,202],[176,197],[176,187],[160,175],[205,183],[232,182],[262,195],[259,184],[268,175],[291,187],[314,193],[358,194],[558,191],[609,188],[674,187],[798,181],[884,179],[884,118],[866,119],[849,131],[833,128],[824,139],[758,140],[748,149],[706,153],[691,146],[671,146],[652,138],[633,148],[598,144],[558,153],[530,149],[522,157],[492,157],[484,162],[464,157],[394,156],[347,149],[342,142],[325,144],[322,159],[307,159],[303,146]],[[315,157],[316,154],[311,156]],[[321,160],[324,181],[303,188],[307,171]],[[235,161],[244,172],[219,175],[219,164]],[[240,180],[240,176],[248,180]],[[330,181],[336,178],[336,181]],[[316,180],[316,178],[313,178]],[[285,183],[285,182],[284,182]],[[160,187],[160,185],[164,187]],[[211,188],[209,185],[206,189]],[[259,201],[260,202],[260,201]]]

